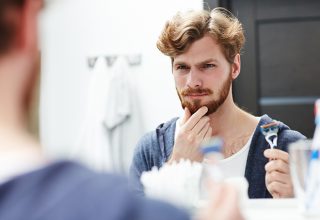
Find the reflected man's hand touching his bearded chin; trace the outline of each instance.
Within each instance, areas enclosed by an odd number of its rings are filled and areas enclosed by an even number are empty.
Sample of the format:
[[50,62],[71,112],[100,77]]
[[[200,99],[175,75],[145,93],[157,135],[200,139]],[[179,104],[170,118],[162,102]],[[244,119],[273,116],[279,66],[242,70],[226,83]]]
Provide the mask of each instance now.
[[203,106],[191,115],[188,108],[185,108],[169,163],[180,159],[202,161],[203,156],[200,153],[200,144],[210,138],[212,133],[209,117],[204,116],[207,111],[208,108]]

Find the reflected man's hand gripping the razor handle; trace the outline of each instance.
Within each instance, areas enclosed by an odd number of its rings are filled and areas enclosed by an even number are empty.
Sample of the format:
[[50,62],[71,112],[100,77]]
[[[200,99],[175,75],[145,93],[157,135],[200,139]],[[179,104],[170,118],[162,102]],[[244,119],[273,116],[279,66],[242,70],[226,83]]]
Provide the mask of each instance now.
[[278,149],[267,149],[264,156],[270,161],[266,164],[266,186],[273,198],[293,197],[293,184],[289,169],[289,154]]

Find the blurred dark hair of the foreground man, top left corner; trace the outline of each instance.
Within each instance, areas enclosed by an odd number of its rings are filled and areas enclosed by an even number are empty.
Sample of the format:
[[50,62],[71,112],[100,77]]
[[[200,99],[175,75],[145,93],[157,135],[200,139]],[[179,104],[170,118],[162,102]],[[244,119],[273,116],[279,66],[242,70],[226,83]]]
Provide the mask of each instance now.
[[0,0],[0,55],[12,46],[17,29],[8,16],[9,10],[21,9],[25,0]]

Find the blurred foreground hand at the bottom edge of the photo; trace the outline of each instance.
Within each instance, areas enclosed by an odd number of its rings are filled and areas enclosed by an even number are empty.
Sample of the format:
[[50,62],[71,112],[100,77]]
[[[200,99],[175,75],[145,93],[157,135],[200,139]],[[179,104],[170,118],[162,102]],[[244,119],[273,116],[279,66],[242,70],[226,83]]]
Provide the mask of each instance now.
[[243,220],[239,207],[238,191],[228,184],[212,183],[209,201],[196,216],[196,220]]

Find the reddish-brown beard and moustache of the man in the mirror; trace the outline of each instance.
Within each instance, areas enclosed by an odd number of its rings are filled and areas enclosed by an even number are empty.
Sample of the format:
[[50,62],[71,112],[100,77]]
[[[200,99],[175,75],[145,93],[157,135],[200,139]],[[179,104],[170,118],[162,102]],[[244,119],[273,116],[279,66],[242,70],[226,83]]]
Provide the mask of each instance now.
[[208,94],[208,95],[214,95],[213,91],[208,88],[187,88],[185,90],[182,90],[179,92],[177,90],[181,106],[182,108],[188,108],[191,114],[194,114],[196,111],[198,111],[199,108],[202,106],[206,106],[208,108],[208,112],[206,115],[211,115],[212,113],[216,112],[219,107],[225,102],[229,95],[230,86],[232,84],[232,76],[229,74],[229,77],[227,80],[223,83],[221,90],[219,91],[219,97],[218,99],[212,99],[206,103],[202,103],[200,99],[195,99],[193,101],[187,101],[184,99],[184,96],[187,96],[189,94]]

